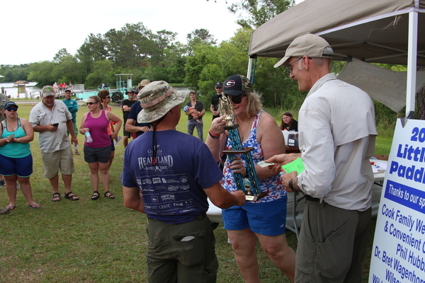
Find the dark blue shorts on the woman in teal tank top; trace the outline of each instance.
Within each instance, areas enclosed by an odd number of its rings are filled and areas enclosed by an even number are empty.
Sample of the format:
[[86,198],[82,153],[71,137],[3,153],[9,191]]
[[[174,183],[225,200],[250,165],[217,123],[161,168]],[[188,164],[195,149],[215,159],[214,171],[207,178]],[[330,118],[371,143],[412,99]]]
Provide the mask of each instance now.
[[0,175],[27,178],[33,173],[33,156],[11,158],[0,154]]

